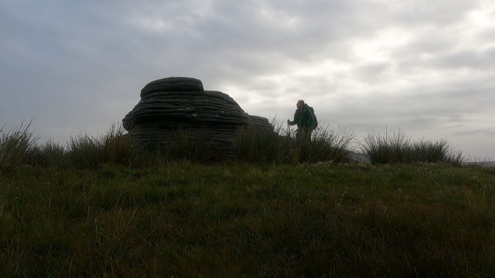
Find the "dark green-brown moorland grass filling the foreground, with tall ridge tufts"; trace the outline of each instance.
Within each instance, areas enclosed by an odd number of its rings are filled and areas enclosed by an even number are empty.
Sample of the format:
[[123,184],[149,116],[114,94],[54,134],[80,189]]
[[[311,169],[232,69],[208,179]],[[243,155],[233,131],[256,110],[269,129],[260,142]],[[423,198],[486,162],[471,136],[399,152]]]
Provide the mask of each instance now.
[[205,163],[182,133],[160,153],[116,126],[66,144],[2,133],[0,277],[492,274],[494,169],[448,163],[446,140],[372,134],[395,160],[360,164],[345,129],[240,134],[237,157]]

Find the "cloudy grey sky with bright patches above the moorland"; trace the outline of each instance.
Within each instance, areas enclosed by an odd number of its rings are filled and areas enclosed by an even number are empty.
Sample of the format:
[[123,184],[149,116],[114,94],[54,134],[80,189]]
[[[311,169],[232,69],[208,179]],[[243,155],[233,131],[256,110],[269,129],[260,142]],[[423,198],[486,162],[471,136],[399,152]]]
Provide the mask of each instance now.
[[[105,133],[149,82],[495,158],[493,0],[0,0],[0,127]],[[321,124],[320,124],[321,125]]]

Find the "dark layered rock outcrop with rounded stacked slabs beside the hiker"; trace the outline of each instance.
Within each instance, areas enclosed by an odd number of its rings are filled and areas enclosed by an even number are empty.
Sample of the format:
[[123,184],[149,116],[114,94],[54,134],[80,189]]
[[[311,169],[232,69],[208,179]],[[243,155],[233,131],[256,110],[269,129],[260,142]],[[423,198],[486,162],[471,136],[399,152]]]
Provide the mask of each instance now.
[[179,131],[211,143],[224,154],[233,154],[239,127],[249,123],[273,131],[263,117],[250,116],[228,94],[204,91],[200,80],[168,77],[148,83],[141,100],[122,119],[131,136],[147,146],[166,145]]

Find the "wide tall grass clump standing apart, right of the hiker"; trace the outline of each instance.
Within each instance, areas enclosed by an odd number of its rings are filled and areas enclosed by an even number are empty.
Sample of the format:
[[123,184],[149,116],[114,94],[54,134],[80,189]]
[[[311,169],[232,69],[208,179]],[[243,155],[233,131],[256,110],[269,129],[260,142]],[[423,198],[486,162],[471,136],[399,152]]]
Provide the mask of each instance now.
[[368,133],[360,142],[361,151],[373,164],[445,162],[460,165],[462,151],[453,151],[446,139],[412,141],[400,129],[397,132]]

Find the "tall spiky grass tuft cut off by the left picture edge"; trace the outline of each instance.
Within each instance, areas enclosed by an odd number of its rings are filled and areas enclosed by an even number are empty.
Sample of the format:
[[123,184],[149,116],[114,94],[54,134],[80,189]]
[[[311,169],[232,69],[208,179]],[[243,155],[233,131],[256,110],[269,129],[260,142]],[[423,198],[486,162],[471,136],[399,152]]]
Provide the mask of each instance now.
[[36,149],[37,138],[33,136],[29,123],[22,122],[20,126],[5,132],[0,128],[0,172],[29,163]]

